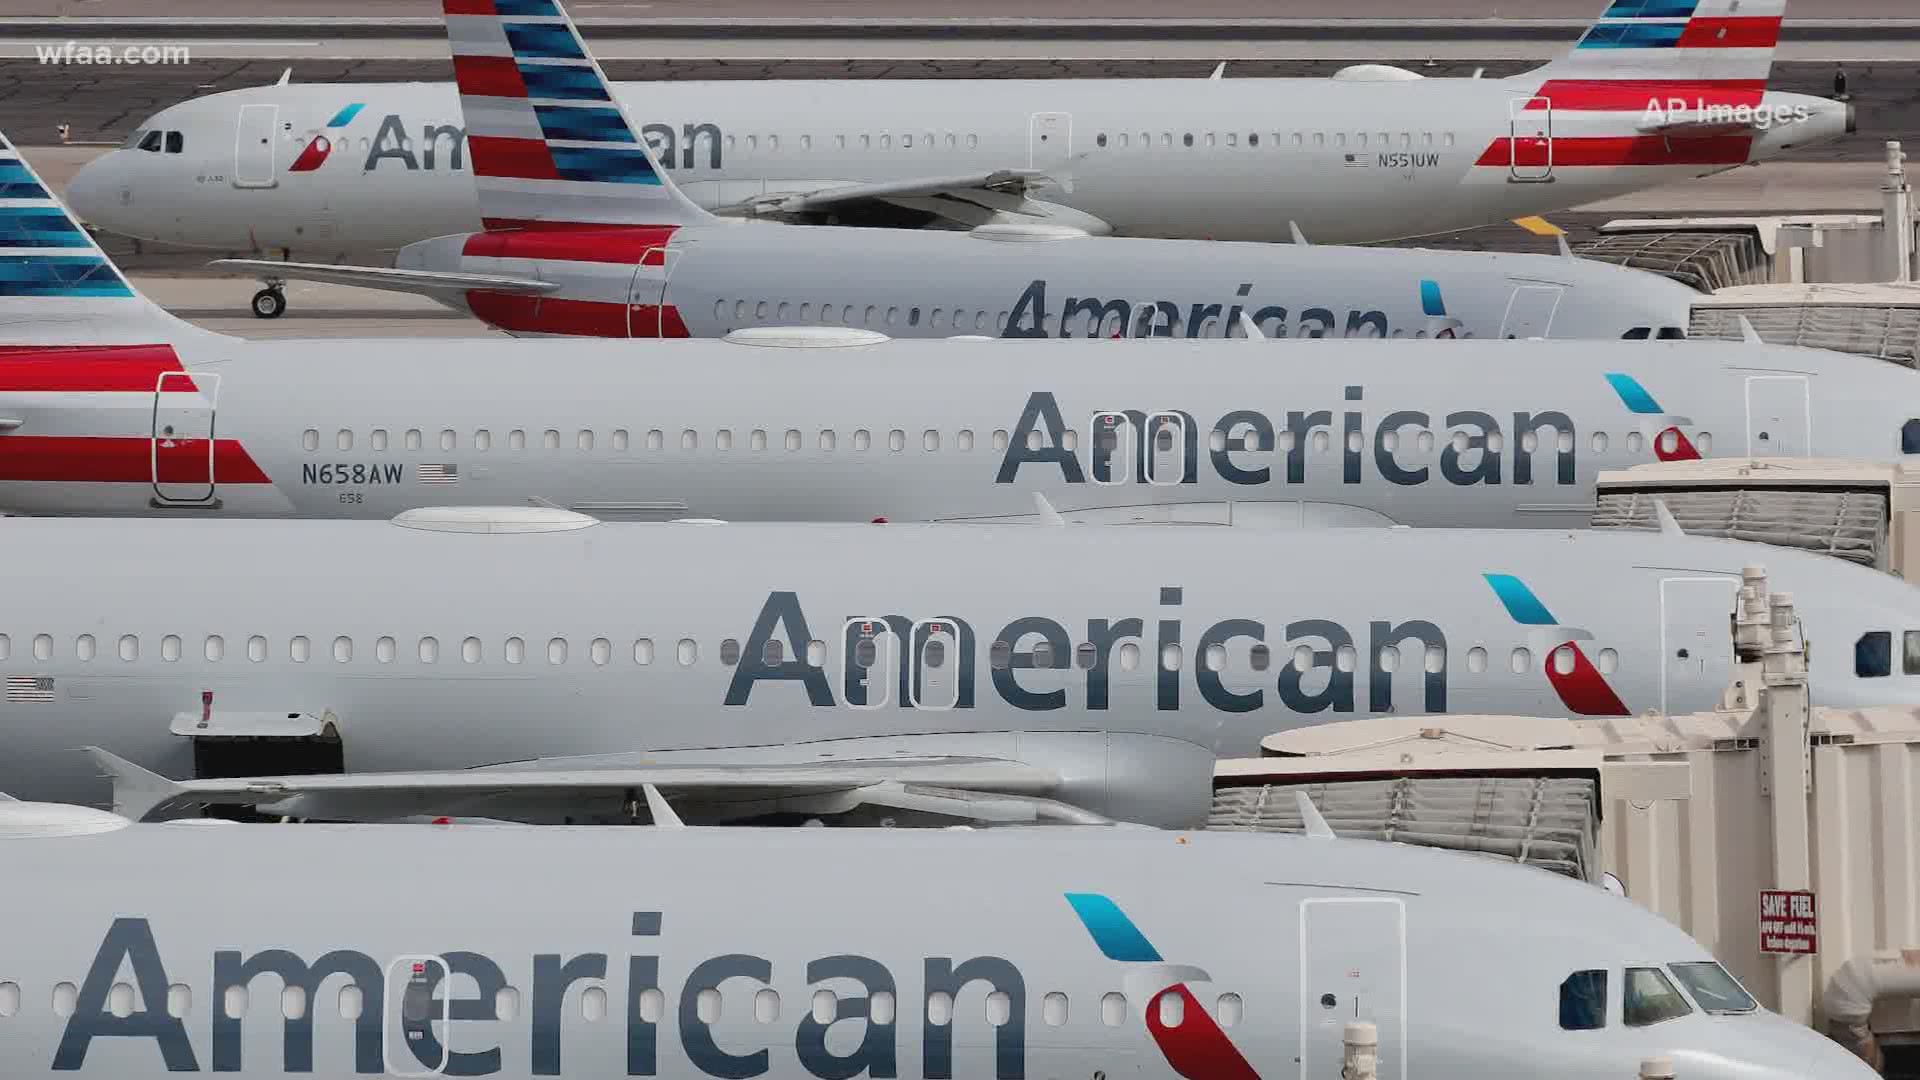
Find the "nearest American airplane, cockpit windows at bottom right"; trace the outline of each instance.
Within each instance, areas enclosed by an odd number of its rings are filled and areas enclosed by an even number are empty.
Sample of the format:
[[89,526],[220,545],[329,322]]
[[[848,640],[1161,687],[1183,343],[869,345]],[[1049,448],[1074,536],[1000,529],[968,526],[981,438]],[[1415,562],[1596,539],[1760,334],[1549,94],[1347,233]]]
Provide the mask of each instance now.
[[0,803],[0,1072],[1260,1080],[1338,1076],[1359,1020],[1382,1080],[1876,1076],[1628,899],[1304,813],[1309,836]]

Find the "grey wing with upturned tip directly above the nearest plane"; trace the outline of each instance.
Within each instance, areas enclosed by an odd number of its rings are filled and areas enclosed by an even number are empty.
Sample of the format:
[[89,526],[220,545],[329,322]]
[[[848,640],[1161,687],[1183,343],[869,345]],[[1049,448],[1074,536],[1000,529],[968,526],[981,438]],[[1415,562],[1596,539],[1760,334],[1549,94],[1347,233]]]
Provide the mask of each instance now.
[[1060,784],[1050,769],[993,757],[659,765],[609,755],[419,773],[169,780],[106,749],[88,753],[113,780],[115,813],[136,821],[215,803],[326,821],[413,815],[584,821],[632,817],[637,792],[647,786],[672,796],[680,815],[701,822],[858,807],[991,822],[1106,821],[1046,798]]

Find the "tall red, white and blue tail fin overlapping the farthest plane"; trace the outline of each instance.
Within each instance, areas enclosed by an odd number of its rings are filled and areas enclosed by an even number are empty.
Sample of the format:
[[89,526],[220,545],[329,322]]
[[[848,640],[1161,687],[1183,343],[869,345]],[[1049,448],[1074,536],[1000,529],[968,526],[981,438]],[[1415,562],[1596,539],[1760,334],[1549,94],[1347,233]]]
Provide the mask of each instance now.
[[697,225],[559,0],[442,0],[480,219],[495,229]]

